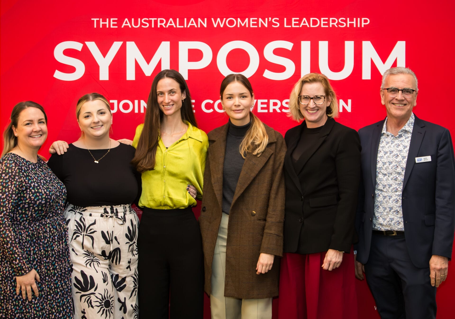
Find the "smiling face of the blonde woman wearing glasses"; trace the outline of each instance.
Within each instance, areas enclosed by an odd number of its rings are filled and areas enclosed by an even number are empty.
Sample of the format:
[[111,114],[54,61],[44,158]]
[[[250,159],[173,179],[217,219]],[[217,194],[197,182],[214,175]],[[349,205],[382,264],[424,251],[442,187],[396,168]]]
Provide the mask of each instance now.
[[[314,97],[315,95],[326,95],[326,93],[321,82],[311,82],[302,85],[302,90],[300,90],[299,95]],[[305,123],[308,128],[316,128],[324,125],[327,120],[327,107],[330,105],[331,101],[332,98],[326,95],[324,103],[320,105],[314,104],[313,99],[311,99],[307,105],[299,103],[300,112],[305,118]]]

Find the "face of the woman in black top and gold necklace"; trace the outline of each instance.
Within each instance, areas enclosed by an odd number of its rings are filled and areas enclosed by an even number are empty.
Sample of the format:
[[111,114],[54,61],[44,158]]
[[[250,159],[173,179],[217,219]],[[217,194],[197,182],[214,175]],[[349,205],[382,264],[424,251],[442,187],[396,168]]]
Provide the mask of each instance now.
[[109,135],[112,114],[103,101],[87,101],[81,106],[77,122],[85,136],[89,138],[103,138]]

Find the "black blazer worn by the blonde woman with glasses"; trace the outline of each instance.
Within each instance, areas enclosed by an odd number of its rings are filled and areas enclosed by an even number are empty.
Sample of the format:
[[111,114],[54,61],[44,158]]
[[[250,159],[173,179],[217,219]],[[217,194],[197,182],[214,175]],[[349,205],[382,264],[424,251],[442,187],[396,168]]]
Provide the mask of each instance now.
[[353,129],[329,118],[317,145],[298,160],[291,154],[305,121],[286,132],[284,252],[349,252],[360,180],[360,140]]

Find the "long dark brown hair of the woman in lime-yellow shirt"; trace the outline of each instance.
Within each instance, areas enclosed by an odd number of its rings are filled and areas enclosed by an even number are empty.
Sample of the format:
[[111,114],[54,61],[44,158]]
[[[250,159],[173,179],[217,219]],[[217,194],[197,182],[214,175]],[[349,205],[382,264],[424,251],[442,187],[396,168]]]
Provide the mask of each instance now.
[[144,128],[136,147],[136,154],[131,163],[136,166],[139,173],[155,168],[155,155],[157,154],[158,140],[160,138],[161,122],[163,112],[158,105],[157,85],[159,80],[171,78],[180,86],[181,93],[185,92],[187,97],[182,102],[180,114],[183,123],[189,122],[197,127],[196,118],[191,105],[190,90],[183,76],[176,70],[162,70],[155,76],[147,100],[147,110],[145,112]]

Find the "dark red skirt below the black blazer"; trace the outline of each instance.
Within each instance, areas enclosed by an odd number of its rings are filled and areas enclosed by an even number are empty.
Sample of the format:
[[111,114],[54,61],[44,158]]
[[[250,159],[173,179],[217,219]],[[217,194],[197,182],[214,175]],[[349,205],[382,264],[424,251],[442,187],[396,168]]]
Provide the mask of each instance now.
[[285,253],[281,259],[279,319],[357,319],[354,256],[339,268],[322,269],[326,252]]

